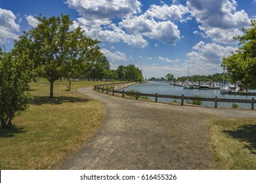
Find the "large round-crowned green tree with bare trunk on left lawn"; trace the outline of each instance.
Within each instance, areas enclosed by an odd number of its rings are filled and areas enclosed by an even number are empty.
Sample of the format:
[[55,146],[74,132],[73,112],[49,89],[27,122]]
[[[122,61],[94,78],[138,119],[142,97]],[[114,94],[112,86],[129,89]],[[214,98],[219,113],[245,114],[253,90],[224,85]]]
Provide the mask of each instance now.
[[73,23],[68,15],[39,16],[37,21],[37,27],[25,32],[15,42],[14,50],[23,52],[24,48],[30,48],[27,54],[33,60],[38,75],[49,80],[52,98],[54,81],[81,75],[86,63],[102,56],[102,53],[99,41],[85,37],[81,27],[70,30]]

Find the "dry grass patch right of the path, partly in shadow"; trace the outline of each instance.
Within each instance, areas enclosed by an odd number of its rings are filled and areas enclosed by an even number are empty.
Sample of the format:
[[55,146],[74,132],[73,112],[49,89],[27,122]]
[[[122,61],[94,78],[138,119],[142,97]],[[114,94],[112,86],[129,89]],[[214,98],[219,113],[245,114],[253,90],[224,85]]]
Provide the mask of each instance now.
[[256,169],[256,120],[216,120],[210,135],[220,169]]

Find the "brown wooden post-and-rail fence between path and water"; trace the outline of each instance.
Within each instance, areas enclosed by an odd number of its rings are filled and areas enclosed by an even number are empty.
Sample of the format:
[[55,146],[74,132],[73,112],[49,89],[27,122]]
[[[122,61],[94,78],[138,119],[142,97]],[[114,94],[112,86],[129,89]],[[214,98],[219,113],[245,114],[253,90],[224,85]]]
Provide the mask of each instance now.
[[150,94],[150,93],[139,93],[139,92],[125,92],[123,91],[116,91],[116,90],[108,90],[106,86],[115,86],[118,83],[112,83],[112,84],[100,84],[100,85],[95,85],[94,89],[97,90],[98,92],[104,92],[106,93],[112,92],[112,95],[115,93],[119,93],[122,95],[122,97],[125,97],[125,95],[135,95],[135,99],[138,99],[139,96],[144,96],[144,97],[154,97],[155,102],[158,102],[158,98],[166,98],[166,99],[181,99],[181,105],[184,105],[184,100],[195,100],[195,101],[211,101],[214,102],[215,105],[214,107],[217,108],[218,103],[251,103],[251,110],[254,110],[254,104],[255,100],[254,97],[251,99],[221,99],[218,98],[217,96],[215,98],[206,98],[206,97],[186,97],[184,95],[177,96],[177,95],[160,95],[158,93],[155,94]]

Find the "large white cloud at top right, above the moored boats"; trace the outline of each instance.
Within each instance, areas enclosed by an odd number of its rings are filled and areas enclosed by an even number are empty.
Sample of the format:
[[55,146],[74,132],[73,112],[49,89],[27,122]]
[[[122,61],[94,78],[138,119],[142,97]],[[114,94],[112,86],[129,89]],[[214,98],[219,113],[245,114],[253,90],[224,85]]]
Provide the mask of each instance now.
[[241,27],[250,25],[244,10],[236,11],[235,0],[188,0],[187,7],[200,29],[215,42],[234,43],[232,37],[242,35]]

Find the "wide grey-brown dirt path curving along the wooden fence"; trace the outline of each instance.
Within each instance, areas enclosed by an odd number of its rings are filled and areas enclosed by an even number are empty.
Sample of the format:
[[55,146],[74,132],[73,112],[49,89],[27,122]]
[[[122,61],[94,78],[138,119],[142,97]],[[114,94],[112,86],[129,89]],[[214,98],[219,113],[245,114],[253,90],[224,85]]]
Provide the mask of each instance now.
[[207,136],[213,119],[256,118],[255,110],[166,105],[91,88],[78,92],[102,101],[106,117],[100,130],[58,169],[217,169]]

